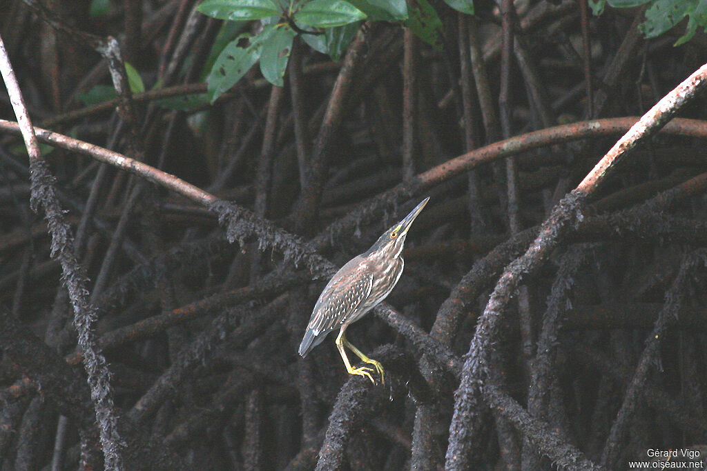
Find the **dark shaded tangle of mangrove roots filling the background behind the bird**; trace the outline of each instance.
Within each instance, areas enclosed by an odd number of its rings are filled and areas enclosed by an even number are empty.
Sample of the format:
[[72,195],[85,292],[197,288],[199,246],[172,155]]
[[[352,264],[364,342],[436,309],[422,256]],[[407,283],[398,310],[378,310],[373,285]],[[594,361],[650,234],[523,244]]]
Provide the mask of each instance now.
[[[284,88],[255,67],[214,105],[189,111],[158,105],[159,91],[136,95],[130,119],[115,103],[78,100],[111,81],[105,59],[71,32],[117,37],[148,89],[161,81],[180,95],[205,90],[221,21],[191,0],[127,0],[100,18],[88,1],[46,1],[59,30],[23,1],[0,8],[36,126],[143,160],[300,237],[230,244],[209,208],[43,149],[66,217],[83,231],[78,254],[127,469],[443,467],[462,355],[498,275],[619,135],[524,148],[510,165],[493,153],[469,171],[447,172],[445,162],[558,124],[640,116],[707,52],[701,33],[672,46],[684,25],[644,40],[640,9],[597,18],[583,2],[515,13],[508,2],[480,3],[471,18],[432,3],[443,49],[367,23],[336,64],[296,42]],[[704,105],[699,97],[680,115],[705,119]],[[0,116],[15,119],[4,91]],[[704,460],[705,157],[703,141],[681,131],[641,145],[525,279],[493,333],[484,396],[493,407],[479,410],[467,469],[549,469],[549,451],[607,469],[653,459],[648,448]],[[415,177],[430,169],[433,184]],[[100,469],[73,313],[29,192],[23,145],[0,134],[2,469]],[[300,359],[332,274],[311,254],[341,266],[424,196],[387,299],[397,312],[349,329],[390,372],[387,383],[349,379],[333,338]],[[271,249],[283,240],[290,251]],[[409,322],[396,323],[399,314]],[[524,422],[518,404],[540,421]]]

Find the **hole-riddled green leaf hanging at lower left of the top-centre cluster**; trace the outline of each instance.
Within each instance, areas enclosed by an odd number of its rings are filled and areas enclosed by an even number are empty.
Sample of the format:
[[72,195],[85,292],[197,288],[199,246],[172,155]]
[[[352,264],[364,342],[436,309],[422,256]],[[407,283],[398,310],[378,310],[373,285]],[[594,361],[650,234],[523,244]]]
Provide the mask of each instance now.
[[207,90],[211,102],[235,85],[255,64],[262,53],[262,42],[274,30],[274,25],[266,25],[259,35],[240,35],[223,48],[218,59],[206,77]]

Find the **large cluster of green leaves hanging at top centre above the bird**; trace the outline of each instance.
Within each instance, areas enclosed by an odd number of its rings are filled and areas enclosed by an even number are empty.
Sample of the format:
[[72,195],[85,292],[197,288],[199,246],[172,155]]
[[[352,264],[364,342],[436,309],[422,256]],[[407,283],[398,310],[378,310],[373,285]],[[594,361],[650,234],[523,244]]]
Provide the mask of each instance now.
[[[472,0],[445,3],[462,13],[474,13]],[[441,47],[442,43],[442,20],[428,0],[204,0],[199,11],[221,20],[260,23],[257,33],[238,35],[218,54],[206,78],[212,102],[258,61],[264,78],[282,86],[298,35],[334,61],[341,58],[363,20],[397,23],[428,44]]]

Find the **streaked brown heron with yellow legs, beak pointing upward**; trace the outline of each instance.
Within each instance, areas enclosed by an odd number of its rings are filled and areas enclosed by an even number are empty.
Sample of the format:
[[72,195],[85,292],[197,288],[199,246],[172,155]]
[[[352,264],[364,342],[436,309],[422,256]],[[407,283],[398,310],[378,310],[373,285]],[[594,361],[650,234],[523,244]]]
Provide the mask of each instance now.
[[[361,255],[342,266],[327,283],[312,311],[312,316],[300,343],[299,354],[306,357],[314,347],[334,330],[339,329],[336,345],[346,371],[351,375],[364,376],[375,385],[371,373],[378,371],[381,383],[385,383],[385,372],[380,362],[366,357],[361,350],[346,340],[346,328],[365,316],[378,303],[382,302],[397,284],[404,261],[402,247],[407,232],[430,198],[425,198],[414,210],[396,225],[387,229]],[[352,368],[344,347],[348,347],[363,362],[373,366]]]

